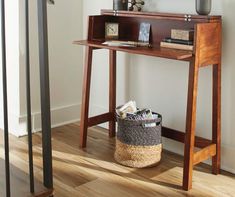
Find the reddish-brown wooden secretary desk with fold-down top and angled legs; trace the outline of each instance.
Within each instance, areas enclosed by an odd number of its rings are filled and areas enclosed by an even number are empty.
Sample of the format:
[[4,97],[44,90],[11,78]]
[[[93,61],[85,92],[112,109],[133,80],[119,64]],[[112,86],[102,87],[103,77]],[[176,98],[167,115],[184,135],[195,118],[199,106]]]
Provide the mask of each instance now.
[[[105,22],[119,23],[120,40],[138,40],[139,24],[151,24],[152,48],[146,47],[114,47],[102,43],[105,37]],[[194,33],[194,50],[174,50],[160,47],[160,41],[169,37],[171,29],[190,29]],[[83,96],[81,112],[80,146],[86,147],[87,128],[109,122],[109,136],[115,136],[116,107],[116,51],[132,54],[155,56],[189,62],[188,99],[185,132],[163,127],[164,137],[182,142],[184,148],[183,189],[192,188],[193,166],[212,157],[212,172],[220,172],[221,144],[221,17],[199,16],[148,12],[114,12],[102,10],[101,15],[89,17],[87,40],[75,41],[75,44],[86,46],[85,69],[83,79]],[[88,117],[90,82],[93,50],[109,50],[109,112],[95,117]],[[212,65],[213,70],[213,109],[212,140],[195,136],[196,99],[198,71],[204,66]],[[167,118],[167,117],[165,117]],[[194,147],[200,148],[195,151]]]

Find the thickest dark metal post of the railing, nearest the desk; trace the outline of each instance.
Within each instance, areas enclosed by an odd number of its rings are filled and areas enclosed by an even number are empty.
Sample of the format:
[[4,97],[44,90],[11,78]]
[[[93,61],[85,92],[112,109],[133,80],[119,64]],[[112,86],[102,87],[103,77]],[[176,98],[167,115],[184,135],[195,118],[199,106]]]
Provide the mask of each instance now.
[[47,35],[47,1],[37,0],[37,2],[38,2],[42,146],[43,146],[43,179],[45,187],[53,188],[48,35]]

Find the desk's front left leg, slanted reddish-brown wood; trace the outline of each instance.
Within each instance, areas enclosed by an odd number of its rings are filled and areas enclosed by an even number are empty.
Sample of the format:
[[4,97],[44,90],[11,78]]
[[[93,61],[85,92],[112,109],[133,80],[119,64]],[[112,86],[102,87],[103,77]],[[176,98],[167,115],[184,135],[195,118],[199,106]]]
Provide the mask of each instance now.
[[92,52],[93,52],[92,47],[86,48],[85,68],[84,68],[84,75],[83,75],[83,89],[82,89],[81,123],[80,123],[80,147],[81,148],[85,148],[86,142],[87,142]]

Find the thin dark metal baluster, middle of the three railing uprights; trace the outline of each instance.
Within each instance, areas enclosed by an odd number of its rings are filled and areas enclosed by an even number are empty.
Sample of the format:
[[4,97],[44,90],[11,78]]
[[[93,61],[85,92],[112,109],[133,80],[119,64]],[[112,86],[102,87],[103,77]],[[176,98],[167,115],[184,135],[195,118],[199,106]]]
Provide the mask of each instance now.
[[27,129],[28,129],[28,157],[30,192],[34,193],[34,170],[33,170],[33,143],[32,143],[32,120],[31,120],[31,91],[30,91],[30,49],[29,49],[29,1],[25,0],[25,33],[26,33],[26,98],[27,98]]

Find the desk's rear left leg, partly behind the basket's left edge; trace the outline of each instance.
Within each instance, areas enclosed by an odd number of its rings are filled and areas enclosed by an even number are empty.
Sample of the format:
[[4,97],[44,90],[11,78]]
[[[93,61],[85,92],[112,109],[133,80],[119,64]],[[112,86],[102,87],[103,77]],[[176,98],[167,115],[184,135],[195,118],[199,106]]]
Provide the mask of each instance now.
[[109,121],[109,137],[114,137],[116,108],[116,51],[109,51],[109,112],[113,114],[113,120]]

